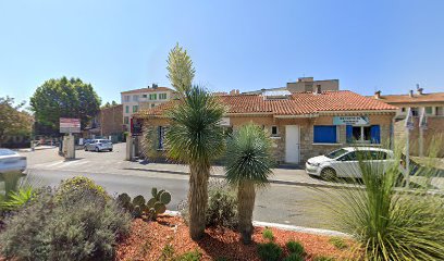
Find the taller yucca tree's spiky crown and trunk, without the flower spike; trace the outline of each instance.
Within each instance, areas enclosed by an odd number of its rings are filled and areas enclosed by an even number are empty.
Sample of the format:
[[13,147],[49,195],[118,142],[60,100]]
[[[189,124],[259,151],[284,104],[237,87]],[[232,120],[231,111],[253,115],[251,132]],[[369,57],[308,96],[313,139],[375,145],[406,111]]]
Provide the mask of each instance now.
[[224,111],[224,107],[209,91],[193,86],[168,112],[171,120],[165,134],[168,156],[189,164],[189,234],[194,240],[201,238],[205,232],[211,162],[224,150],[224,135],[220,125]]

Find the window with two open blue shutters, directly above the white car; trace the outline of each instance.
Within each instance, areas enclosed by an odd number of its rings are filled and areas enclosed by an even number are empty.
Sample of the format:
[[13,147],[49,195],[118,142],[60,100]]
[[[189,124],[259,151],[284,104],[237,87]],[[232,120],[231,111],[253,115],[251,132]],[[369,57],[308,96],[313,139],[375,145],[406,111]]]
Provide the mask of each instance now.
[[381,127],[380,125],[371,126],[346,126],[347,142],[361,144],[380,144],[381,142]]

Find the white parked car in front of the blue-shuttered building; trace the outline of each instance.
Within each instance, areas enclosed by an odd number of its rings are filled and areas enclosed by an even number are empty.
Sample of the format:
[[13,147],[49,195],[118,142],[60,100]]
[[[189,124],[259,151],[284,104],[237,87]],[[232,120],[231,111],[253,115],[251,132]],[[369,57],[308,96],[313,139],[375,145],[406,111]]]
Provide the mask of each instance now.
[[394,162],[394,153],[392,150],[374,147],[342,148],[309,159],[306,163],[306,172],[309,175],[325,179],[335,177],[359,178],[362,177],[359,159],[368,160],[378,167],[388,167]]

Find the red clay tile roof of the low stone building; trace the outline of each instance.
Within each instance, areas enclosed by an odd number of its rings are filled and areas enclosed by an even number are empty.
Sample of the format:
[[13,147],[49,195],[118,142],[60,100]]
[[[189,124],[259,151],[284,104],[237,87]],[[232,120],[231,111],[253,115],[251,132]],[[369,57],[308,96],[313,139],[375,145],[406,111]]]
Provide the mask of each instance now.
[[[218,96],[227,114],[304,115],[336,111],[395,111],[397,108],[349,90],[292,94],[288,99],[267,100],[260,95]],[[140,111],[139,116],[162,115],[177,100]]]

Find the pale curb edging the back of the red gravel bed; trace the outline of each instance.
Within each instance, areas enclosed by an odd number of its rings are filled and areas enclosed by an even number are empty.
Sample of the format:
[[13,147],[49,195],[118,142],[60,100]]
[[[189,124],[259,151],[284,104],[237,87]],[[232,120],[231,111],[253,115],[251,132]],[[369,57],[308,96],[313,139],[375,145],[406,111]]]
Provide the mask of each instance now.
[[[165,214],[172,216],[180,216],[181,213],[178,211],[166,210]],[[337,231],[330,231],[330,229],[322,229],[322,228],[312,228],[312,227],[305,227],[305,226],[294,226],[287,224],[280,224],[280,223],[270,223],[270,222],[261,222],[261,221],[252,221],[254,226],[259,227],[274,227],[283,231],[292,231],[292,232],[299,232],[299,233],[307,233],[312,235],[321,235],[321,236],[338,236],[338,237],[347,237],[351,238],[350,235]]]

